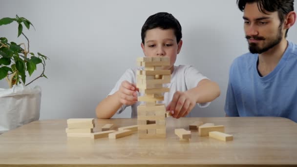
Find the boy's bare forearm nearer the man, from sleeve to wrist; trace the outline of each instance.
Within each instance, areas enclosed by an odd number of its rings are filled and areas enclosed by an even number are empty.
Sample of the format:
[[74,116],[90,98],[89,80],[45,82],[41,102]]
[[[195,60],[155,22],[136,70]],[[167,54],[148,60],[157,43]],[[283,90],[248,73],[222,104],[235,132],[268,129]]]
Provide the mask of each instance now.
[[188,92],[192,98],[196,99],[196,103],[212,102],[221,93],[218,84],[208,79],[201,80],[196,87]]

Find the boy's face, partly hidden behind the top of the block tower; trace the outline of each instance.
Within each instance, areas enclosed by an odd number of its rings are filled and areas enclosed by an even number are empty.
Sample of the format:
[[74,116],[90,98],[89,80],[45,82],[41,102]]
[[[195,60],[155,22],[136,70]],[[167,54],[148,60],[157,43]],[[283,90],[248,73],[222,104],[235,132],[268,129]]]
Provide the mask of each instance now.
[[163,69],[170,69],[171,73],[174,68],[176,55],[179,54],[182,40],[176,42],[173,29],[163,30],[161,28],[153,28],[146,32],[145,43],[141,43],[142,50],[147,57],[169,57],[170,66]]

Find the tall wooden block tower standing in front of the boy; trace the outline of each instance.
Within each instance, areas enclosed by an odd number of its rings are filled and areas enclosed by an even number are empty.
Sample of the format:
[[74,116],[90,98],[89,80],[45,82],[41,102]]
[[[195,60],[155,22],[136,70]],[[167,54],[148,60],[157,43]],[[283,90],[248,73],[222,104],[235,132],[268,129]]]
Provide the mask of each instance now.
[[162,70],[162,66],[169,66],[169,57],[142,57],[137,59],[138,66],[144,66],[144,70],[138,70],[136,84],[144,96],[138,97],[138,101],[145,102],[137,107],[138,137],[139,138],[166,138],[166,106],[156,104],[156,101],[164,101],[164,92],[169,88],[163,84],[170,83],[170,70]]

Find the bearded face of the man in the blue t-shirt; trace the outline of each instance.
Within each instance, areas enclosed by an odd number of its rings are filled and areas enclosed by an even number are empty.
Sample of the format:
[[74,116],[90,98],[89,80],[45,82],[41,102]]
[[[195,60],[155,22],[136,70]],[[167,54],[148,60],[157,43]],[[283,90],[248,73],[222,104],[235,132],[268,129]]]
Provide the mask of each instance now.
[[277,12],[261,13],[257,3],[247,3],[244,8],[244,31],[251,53],[261,54],[284,39],[283,26]]

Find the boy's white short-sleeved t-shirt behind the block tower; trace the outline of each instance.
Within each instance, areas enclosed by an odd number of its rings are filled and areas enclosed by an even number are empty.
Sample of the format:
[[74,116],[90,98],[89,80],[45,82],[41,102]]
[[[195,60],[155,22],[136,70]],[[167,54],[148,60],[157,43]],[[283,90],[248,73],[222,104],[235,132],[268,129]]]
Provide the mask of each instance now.
[[[111,92],[108,94],[108,96],[118,91],[123,81],[136,84],[137,70],[144,70],[144,67],[127,69],[126,72],[120,78],[120,80],[116,83],[114,88],[111,90]],[[170,84],[163,84],[163,87],[169,87],[170,91],[164,93],[164,101],[158,101],[157,103],[165,104],[165,106],[167,106],[171,102],[172,97],[176,91],[184,92],[191,88],[194,88],[203,79],[208,78],[202,75],[196,68],[194,68],[191,65],[174,66],[173,73],[171,74]],[[137,95],[143,96],[144,94],[137,92]],[[131,105],[131,118],[137,117],[137,106],[143,103],[144,102],[137,102]],[[210,102],[205,104],[198,104],[198,106],[207,107],[209,104]],[[120,114],[122,111],[124,111],[127,106],[129,105],[122,105],[122,107],[117,111],[117,114]]]

